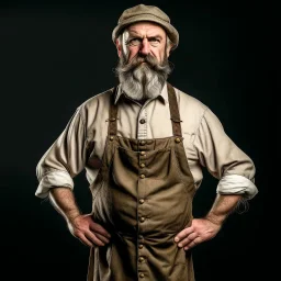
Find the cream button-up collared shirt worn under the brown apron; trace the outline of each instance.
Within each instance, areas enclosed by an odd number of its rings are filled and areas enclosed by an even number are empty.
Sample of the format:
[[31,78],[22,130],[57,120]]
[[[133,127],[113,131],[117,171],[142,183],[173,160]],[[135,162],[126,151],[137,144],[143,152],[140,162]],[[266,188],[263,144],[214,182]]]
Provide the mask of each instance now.
[[[43,155],[36,167],[38,187],[35,195],[46,198],[49,189],[74,189],[74,178],[86,169],[91,184],[95,179],[108,136],[110,95],[113,89],[99,93],[77,108],[66,128]],[[198,99],[176,89],[186,155],[194,186],[201,186],[207,171],[218,180],[221,194],[241,194],[252,199],[255,186],[252,160],[227,136],[216,115]],[[119,86],[117,135],[128,138],[172,136],[167,85],[158,98],[139,104],[128,99]],[[87,159],[91,157],[91,167]],[[93,167],[92,164],[94,162]]]

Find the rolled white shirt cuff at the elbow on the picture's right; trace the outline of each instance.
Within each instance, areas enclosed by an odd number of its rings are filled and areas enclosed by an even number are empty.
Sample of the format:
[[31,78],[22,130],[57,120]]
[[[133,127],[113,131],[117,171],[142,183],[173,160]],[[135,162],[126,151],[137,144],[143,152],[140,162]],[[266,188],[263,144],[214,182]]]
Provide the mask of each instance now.
[[250,200],[257,193],[258,189],[251,180],[240,175],[224,176],[216,188],[220,194],[240,194],[244,199]]

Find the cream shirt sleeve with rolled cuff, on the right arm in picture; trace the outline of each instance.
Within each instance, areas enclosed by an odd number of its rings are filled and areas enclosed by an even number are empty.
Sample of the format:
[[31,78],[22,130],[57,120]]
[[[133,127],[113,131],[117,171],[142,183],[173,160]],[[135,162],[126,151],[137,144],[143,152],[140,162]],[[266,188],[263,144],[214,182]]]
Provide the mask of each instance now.
[[258,193],[252,160],[227,136],[210,109],[196,130],[194,147],[200,164],[220,180],[217,193],[241,194],[244,199],[252,199]]

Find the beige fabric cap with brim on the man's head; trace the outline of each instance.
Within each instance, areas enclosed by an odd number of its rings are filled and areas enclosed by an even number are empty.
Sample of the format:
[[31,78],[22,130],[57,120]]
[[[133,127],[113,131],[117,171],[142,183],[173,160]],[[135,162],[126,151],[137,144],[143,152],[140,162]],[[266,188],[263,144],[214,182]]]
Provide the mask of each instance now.
[[161,25],[173,43],[172,49],[179,45],[179,33],[170,24],[170,18],[155,5],[138,4],[133,8],[126,9],[119,19],[117,26],[112,32],[112,40],[115,41],[120,33],[130,24],[136,22],[149,21]]

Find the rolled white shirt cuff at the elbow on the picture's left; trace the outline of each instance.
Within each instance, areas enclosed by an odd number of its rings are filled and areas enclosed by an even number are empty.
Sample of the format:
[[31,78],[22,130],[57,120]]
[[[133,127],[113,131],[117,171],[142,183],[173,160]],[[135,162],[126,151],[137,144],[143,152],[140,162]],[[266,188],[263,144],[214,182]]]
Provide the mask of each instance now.
[[53,171],[45,175],[40,181],[35,195],[45,199],[48,196],[52,188],[58,187],[74,189],[74,181],[69,173],[65,171]]

